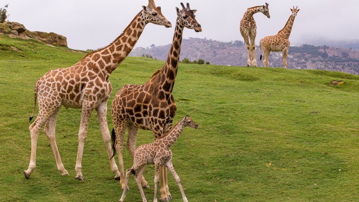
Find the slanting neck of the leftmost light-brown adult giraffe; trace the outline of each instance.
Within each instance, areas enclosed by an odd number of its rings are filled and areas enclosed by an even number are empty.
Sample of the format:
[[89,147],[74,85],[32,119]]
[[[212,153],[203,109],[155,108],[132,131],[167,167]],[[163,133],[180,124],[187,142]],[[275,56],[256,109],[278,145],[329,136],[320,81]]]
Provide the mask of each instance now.
[[115,41],[87,57],[92,57],[92,60],[95,60],[101,69],[106,70],[107,76],[109,76],[134,48],[146,24],[145,17],[141,11]]

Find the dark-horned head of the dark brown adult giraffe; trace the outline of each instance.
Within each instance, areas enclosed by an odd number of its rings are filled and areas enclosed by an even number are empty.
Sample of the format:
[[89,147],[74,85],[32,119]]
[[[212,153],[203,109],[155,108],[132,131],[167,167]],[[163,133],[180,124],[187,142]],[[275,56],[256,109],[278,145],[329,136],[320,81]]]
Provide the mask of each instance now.
[[202,27],[200,24],[198,24],[196,20],[196,11],[197,10],[191,10],[190,4],[187,3],[187,8],[183,3],[181,3],[182,10],[176,7],[177,16],[178,16],[178,22],[180,23],[180,26],[187,27],[188,29],[194,29],[195,32],[202,32]]

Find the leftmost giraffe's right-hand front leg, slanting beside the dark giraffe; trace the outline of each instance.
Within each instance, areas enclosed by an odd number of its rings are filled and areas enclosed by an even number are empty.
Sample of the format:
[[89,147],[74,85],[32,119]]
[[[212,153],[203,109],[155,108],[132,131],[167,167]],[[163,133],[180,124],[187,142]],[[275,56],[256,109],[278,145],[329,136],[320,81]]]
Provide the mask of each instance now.
[[108,159],[110,161],[111,171],[115,173],[115,179],[120,180],[121,174],[118,171],[118,167],[116,165],[115,159],[112,158],[111,142],[110,142],[111,137],[107,125],[107,102],[104,102],[100,107],[96,108],[96,112],[97,112],[98,122],[100,124],[102,139],[105,143]]

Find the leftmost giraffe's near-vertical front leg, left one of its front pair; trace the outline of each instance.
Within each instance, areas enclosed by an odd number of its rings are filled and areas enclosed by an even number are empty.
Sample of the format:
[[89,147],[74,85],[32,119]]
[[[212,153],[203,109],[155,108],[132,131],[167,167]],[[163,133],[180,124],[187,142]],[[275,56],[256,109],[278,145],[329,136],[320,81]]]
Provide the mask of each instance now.
[[81,111],[81,121],[80,121],[80,130],[79,130],[79,147],[77,150],[77,158],[76,158],[76,176],[75,179],[85,180],[81,170],[82,170],[82,155],[84,152],[85,139],[87,137],[87,128],[90,120],[90,116],[92,111],[94,110],[95,102],[90,102],[84,100],[82,103],[82,111]]

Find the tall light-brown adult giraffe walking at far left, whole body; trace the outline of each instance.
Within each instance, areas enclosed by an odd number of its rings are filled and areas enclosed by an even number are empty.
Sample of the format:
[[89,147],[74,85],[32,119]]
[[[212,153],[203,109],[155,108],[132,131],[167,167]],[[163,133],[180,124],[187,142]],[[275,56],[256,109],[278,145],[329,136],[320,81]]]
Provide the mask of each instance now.
[[[75,179],[84,180],[81,173],[81,160],[89,119],[94,109],[97,112],[102,138],[110,159],[112,156],[111,137],[107,126],[106,114],[107,101],[111,94],[112,86],[108,78],[112,71],[130,53],[148,23],[172,27],[171,23],[162,15],[161,8],[156,7],[153,0],[149,0],[148,6],[143,6],[143,9],[135,16],[129,26],[110,45],[89,53],[73,66],[50,70],[37,81],[35,86],[35,104],[32,115],[29,118],[30,121],[34,116],[37,100],[39,113],[36,120],[29,127],[31,134],[31,159],[28,169],[23,171],[25,178],[28,179],[35,169],[37,138],[44,124],[44,133],[50,141],[57,169],[61,171],[62,175],[69,175],[61,162],[59,150],[55,142],[56,119],[61,105],[65,109],[69,107],[82,109],[78,133],[79,146],[75,166]],[[111,171],[116,174],[115,179],[119,180],[120,172],[115,160],[110,159],[109,161]]]

